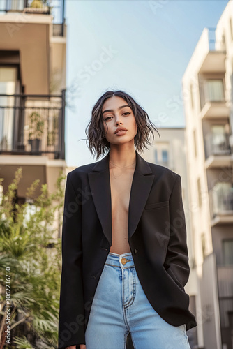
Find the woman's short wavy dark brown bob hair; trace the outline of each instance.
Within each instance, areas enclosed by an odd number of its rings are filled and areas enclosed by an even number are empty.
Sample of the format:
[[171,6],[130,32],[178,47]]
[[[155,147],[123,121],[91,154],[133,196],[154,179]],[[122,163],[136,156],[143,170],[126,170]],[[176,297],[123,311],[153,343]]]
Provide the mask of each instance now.
[[149,142],[150,133],[152,134],[154,140],[153,129],[158,133],[160,137],[158,128],[153,125],[153,123],[149,119],[148,114],[142,107],[140,107],[140,105],[133,99],[133,97],[129,96],[124,91],[114,91],[110,89],[106,91],[93,106],[91,112],[91,120],[89,121],[89,124],[85,129],[85,133],[87,135],[86,142],[88,142],[87,146],[89,147],[92,155],[96,153],[96,160],[98,160],[101,155],[106,154],[110,150],[110,142],[108,142],[105,138],[107,132],[105,133],[105,128],[103,126],[102,109],[105,101],[112,96],[123,98],[128,103],[131,110],[133,111],[133,114],[135,115],[137,135],[135,135],[134,144],[137,151],[142,152],[144,148],[148,149],[148,147],[146,147],[146,144],[153,144]]

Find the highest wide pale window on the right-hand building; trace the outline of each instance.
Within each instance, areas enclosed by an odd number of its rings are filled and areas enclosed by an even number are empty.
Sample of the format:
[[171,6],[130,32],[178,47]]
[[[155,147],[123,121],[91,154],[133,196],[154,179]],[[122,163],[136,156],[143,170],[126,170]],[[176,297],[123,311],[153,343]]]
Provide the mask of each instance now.
[[211,79],[204,82],[205,102],[225,101],[223,80]]

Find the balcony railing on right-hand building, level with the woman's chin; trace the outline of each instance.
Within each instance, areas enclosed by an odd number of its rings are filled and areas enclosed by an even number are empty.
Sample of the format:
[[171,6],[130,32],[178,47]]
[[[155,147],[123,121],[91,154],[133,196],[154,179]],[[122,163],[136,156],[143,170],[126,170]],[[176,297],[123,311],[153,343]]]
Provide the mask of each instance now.
[[208,133],[205,137],[205,156],[221,156],[230,154],[229,133]]

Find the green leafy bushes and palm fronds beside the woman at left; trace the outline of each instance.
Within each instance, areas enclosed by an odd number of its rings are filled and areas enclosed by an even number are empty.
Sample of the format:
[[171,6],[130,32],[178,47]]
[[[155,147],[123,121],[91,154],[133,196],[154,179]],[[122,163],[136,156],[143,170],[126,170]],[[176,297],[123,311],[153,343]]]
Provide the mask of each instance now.
[[[61,226],[66,177],[60,172],[52,194],[48,193],[47,184],[43,184],[36,199],[33,194],[39,181],[34,181],[27,188],[27,198],[33,202],[33,208],[29,202],[15,204],[21,178],[22,168],[18,168],[0,202],[0,303],[3,306],[0,338],[6,330],[5,291],[6,281],[10,281],[11,332],[22,325],[28,331],[11,338],[6,348],[57,348],[61,239],[54,239],[53,223],[57,214]],[[0,184],[2,181],[0,179]],[[6,274],[6,267],[10,267],[10,274]],[[27,338],[28,333],[35,335],[33,343]]]

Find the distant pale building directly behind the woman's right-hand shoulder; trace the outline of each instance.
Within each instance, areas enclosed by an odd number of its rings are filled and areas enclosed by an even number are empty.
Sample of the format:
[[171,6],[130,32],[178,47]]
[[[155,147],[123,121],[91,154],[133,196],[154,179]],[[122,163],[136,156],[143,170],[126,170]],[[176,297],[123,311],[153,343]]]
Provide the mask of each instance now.
[[[178,173],[181,176],[183,209],[186,216],[186,231],[188,257],[190,265],[190,276],[185,290],[190,296],[190,311],[197,316],[196,313],[196,298],[197,298],[197,273],[195,268],[194,242],[192,235],[192,215],[190,215],[190,193],[188,188],[188,163],[186,154],[186,129],[182,127],[163,127],[158,125],[158,134],[155,134],[153,146],[149,149],[144,149],[143,157],[150,163],[170,168],[170,170]],[[190,329],[188,332],[190,348],[197,348],[197,327]]]

